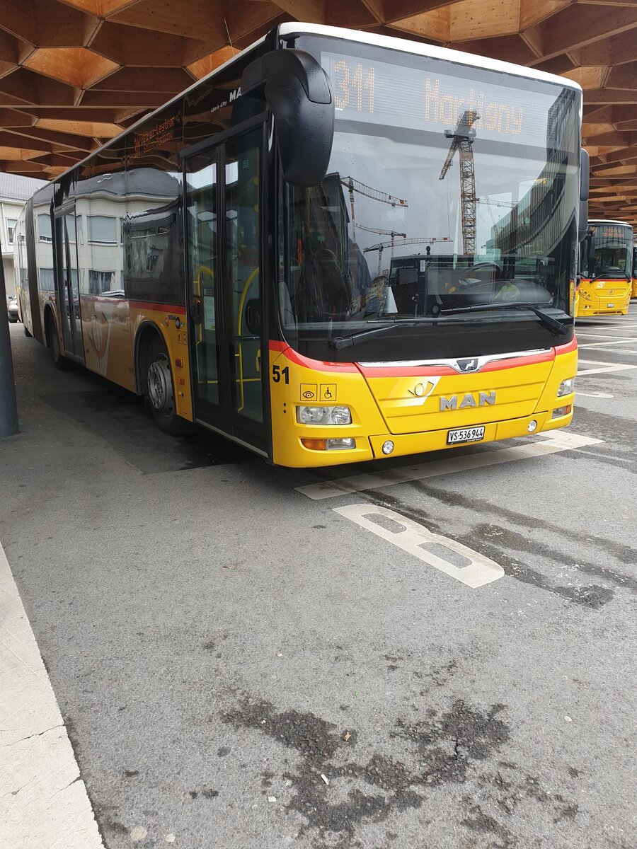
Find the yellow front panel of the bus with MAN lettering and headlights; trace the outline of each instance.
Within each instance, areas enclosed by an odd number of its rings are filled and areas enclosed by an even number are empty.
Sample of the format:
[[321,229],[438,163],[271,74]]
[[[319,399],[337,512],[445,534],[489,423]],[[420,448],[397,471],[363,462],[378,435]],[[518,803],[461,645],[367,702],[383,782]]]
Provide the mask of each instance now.
[[[445,366],[317,363],[285,343],[270,342],[270,363],[279,367],[279,374],[287,369],[288,378],[287,383],[271,383],[273,463],[311,467],[384,458],[387,441],[393,443],[392,457],[448,448],[448,431],[454,428],[484,425],[480,441],[488,442],[565,427],[572,420],[574,394],[558,397],[557,391],[563,380],[575,377],[578,351],[572,340],[537,357],[494,359],[480,371],[458,374]],[[479,406],[481,393],[493,392],[493,406]],[[472,399],[471,406],[441,411],[441,399],[448,402],[454,397],[458,406],[465,398]],[[298,407],[335,404],[350,408],[352,424],[296,421]],[[355,447],[321,447],[323,441],[344,437],[353,438]],[[476,443],[459,443],[463,444]]]

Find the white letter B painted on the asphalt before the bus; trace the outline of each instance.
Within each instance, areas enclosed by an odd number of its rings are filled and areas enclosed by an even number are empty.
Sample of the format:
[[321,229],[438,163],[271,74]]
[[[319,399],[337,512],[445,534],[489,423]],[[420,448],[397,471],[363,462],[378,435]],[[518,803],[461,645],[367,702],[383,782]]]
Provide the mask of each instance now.
[[[408,519],[394,510],[376,507],[375,504],[347,504],[347,507],[335,507],[333,509],[335,513],[340,513],[341,516],[356,522],[365,530],[375,533],[377,537],[393,543],[408,554],[413,554],[423,563],[433,566],[434,569],[444,572],[445,575],[455,578],[456,581],[464,583],[472,589],[497,581],[505,574],[502,566],[494,560],[467,548],[462,543],[457,543],[454,539],[431,533],[425,526],[419,525],[414,520]],[[392,531],[383,527],[374,520],[373,517],[375,516],[382,516],[391,520],[396,523],[399,530]],[[433,545],[447,549],[452,556],[453,554],[459,555],[459,559],[466,560],[466,564],[454,565],[448,559],[439,557],[426,548]]]

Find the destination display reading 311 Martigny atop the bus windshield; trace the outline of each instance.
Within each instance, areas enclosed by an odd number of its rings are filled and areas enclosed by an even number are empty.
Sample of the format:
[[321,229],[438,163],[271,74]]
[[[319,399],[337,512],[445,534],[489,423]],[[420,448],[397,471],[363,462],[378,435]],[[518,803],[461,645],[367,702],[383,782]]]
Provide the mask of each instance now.
[[[477,138],[545,147],[555,137],[550,123],[559,123],[567,111],[561,109],[559,87],[551,93],[523,91],[505,75],[502,85],[495,85],[472,81],[471,69],[467,77],[448,76],[336,53],[321,53],[321,65],[332,82],[337,120],[443,133],[454,130],[465,113],[473,113],[478,117],[473,125],[470,119],[468,129],[475,129]],[[446,63],[437,65],[442,70]]]

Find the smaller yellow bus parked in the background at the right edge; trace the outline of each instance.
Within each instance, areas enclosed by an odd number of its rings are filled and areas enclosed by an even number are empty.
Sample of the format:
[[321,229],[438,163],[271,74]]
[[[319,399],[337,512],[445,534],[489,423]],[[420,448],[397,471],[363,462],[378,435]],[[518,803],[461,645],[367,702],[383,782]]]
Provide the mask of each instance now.
[[579,254],[577,317],[629,312],[633,228],[622,221],[589,221]]

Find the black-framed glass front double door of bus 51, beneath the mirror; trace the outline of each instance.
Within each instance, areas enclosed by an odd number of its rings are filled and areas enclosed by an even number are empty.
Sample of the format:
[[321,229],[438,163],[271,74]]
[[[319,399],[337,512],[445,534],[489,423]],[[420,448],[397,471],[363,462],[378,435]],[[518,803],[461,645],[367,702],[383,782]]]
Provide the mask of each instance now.
[[184,210],[194,419],[268,456],[263,133],[186,151]]

